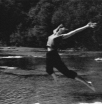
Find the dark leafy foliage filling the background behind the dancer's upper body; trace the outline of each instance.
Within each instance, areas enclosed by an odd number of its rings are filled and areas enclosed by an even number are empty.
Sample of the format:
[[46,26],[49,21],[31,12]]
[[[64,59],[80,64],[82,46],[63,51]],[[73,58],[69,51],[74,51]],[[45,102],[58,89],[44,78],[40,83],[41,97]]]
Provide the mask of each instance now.
[[54,28],[69,31],[97,22],[62,42],[61,48],[102,50],[102,0],[0,0],[0,43],[8,46],[45,47]]

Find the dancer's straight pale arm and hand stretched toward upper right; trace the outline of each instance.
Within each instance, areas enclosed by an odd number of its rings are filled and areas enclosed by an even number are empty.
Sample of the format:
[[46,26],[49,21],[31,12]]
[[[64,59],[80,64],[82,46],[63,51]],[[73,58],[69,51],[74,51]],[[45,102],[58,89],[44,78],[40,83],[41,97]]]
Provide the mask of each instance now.
[[94,28],[96,26],[96,23],[92,23],[92,22],[89,22],[87,25],[83,26],[83,27],[80,27],[80,28],[77,28],[69,33],[66,33],[66,34],[63,34],[63,38],[66,39],[66,38],[69,38],[70,36],[78,33],[78,32],[81,32],[89,27],[91,28]]

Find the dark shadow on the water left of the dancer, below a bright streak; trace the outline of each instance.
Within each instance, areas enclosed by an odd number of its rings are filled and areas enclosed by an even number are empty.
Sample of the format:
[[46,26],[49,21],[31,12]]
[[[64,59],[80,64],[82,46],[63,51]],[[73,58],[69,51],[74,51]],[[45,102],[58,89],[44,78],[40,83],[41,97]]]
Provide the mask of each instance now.
[[34,70],[36,69],[36,66],[42,65],[45,63],[44,58],[37,58],[37,57],[31,57],[31,56],[22,56],[22,58],[7,58],[7,56],[8,55],[0,56],[0,66],[18,67],[22,70],[32,70],[32,69]]

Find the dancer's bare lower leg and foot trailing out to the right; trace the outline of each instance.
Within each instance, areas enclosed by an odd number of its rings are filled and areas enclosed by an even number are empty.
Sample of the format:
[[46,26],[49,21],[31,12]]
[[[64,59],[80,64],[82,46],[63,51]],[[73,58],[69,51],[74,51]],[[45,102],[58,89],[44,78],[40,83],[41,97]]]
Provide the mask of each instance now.
[[82,82],[83,84],[85,84],[87,87],[89,87],[91,90],[93,90],[95,92],[95,88],[93,87],[91,81],[86,81],[85,79],[83,79],[79,75],[77,75],[77,77],[75,78],[75,80]]

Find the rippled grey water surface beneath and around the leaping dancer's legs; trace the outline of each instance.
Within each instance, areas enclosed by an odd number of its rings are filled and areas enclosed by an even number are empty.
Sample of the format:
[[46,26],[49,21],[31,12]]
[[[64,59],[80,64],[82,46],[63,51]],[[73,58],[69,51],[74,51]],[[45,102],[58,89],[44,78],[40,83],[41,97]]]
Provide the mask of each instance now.
[[54,69],[56,85],[45,72],[45,57],[1,54],[0,104],[101,104],[102,54],[60,55],[70,70],[93,82],[96,92]]

